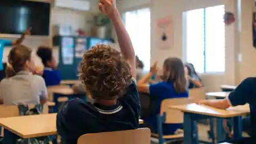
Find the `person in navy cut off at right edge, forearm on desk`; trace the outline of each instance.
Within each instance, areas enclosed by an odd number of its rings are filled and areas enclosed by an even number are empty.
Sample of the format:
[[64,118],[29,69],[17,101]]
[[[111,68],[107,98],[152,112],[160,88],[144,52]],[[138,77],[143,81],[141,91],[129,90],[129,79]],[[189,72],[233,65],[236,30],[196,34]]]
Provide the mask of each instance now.
[[251,137],[242,138],[234,141],[229,141],[230,143],[245,143],[249,144],[256,141],[256,77],[249,77],[244,79],[244,81],[239,84],[236,89],[228,95],[226,99],[221,100],[202,100],[199,104],[208,105],[211,107],[216,107],[220,109],[227,109],[230,106],[245,105],[245,103],[250,104],[251,111]]

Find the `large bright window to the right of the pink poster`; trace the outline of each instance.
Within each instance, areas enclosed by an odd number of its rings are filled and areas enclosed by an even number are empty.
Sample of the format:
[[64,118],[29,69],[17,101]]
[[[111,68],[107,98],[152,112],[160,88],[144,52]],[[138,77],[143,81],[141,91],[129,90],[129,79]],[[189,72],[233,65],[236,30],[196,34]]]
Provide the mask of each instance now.
[[198,73],[225,71],[225,6],[186,13],[187,61]]

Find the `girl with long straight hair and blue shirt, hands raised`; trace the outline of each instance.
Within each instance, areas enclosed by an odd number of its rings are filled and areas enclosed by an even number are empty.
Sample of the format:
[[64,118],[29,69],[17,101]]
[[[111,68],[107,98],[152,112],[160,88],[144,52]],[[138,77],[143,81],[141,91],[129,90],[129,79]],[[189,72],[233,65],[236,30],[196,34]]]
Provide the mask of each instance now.
[[[147,84],[146,82],[156,73],[156,64],[151,67],[150,72],[138,83],[139,92],[149,93],[150,97],[157,97],[156,113],[144,119],[151,129],[151,132],[157,132],[156,116],[160,113],[161,102],[170,98],[187,98],[187,79],[185,76],[185,67],[179,58],[167,58],[163,65],[163,82]],[[177,129],[181,129],[182,124],[163,124],[163,134],[174,134]]]

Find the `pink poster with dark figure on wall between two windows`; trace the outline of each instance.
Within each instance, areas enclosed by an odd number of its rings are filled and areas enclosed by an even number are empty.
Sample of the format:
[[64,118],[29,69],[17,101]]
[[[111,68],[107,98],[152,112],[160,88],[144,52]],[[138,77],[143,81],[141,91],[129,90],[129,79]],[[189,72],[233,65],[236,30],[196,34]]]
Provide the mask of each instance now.
[[157,20],[157,45],[161,50],[173,47],[173,20],[171,16]]

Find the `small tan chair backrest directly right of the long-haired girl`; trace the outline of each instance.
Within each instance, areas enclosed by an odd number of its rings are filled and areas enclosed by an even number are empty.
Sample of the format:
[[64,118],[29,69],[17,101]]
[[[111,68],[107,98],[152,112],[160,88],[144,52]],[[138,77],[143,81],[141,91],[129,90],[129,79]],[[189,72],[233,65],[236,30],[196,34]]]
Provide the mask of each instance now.
[[189,98],[192,99],[193,102],[205,100],[205,98],[206,98],[205,88],[199,87],[199,88],[190,89],[188,96],[189,96]]

